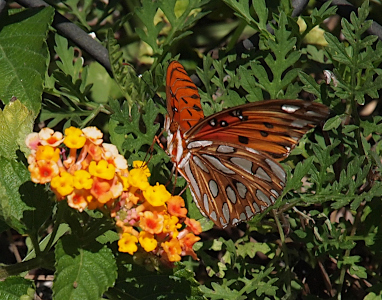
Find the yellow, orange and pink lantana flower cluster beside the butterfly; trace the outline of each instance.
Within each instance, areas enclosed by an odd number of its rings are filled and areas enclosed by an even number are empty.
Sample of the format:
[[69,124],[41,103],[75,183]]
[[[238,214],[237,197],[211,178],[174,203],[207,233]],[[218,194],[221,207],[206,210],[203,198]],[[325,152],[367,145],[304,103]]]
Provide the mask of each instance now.
[[50,128],[31,133],[28,170],[35,183],[50,183],[58,201],[79,211],[109,209],[115,218],[119,251],[148,252],[165,262],[197,256],[200,223],[187,217],[184,200],[163,185],[151,186],[150,171],[140,161],[129,171],[116,146],[103,142],[96,127],[69,127],[65,136]]

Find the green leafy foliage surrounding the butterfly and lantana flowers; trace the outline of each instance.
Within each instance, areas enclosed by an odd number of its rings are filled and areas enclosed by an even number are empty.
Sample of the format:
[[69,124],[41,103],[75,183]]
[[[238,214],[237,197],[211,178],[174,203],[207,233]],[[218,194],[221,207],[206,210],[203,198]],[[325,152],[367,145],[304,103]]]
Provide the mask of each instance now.
[[[336,13],[330,2],[309,6],[299,19],[289,1],[65,4],[57,10],[106,40],[113,78],[77,45],[48,32],[53,9],[2,15],[0,228],[27,235],[28,254],[0,269],[8,277],[0,282],[0,298],[29,299],[31,282],[10,275],[39,267],[55,271],[54,299],[289,299],[309,293],[339,299],[353,296],[354,286],[365,299],[381,298],[382,117],[379,106],[373,113],[362,109],[380,95],[382,43],[367,33],[368,1],[331,32],[322,26]],[[218,23],[233,29],[222,34]],[[317,26],[324,43],[309,42]],[[234,47],[250,34],[256,45]],[[216,45],[219,51],[210,52]],[[195,69],[206,116],[271,98],[314,97],[333,111],[282,162],[288,180],[275,205],[247,224],[207,231],[212,222],[186,191],[189,216],[206,230],[194,246],[200,261],[168,268],[150,253],[119,253],[105,210],[80,213],[52,201],[47,188],[30,181],[24,140],[34,122],[59,130],[97,126],[130,165],[148,162],[152,184],[168,184],[178,194],[186,181],[171,177],[170,159],[154,142],[167,111],[158,94],[165,95],[172,58]]]

